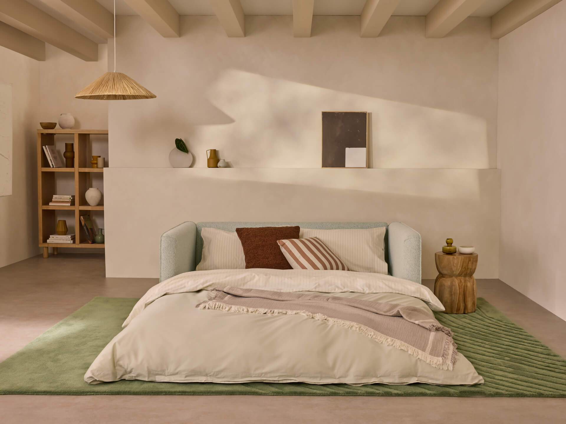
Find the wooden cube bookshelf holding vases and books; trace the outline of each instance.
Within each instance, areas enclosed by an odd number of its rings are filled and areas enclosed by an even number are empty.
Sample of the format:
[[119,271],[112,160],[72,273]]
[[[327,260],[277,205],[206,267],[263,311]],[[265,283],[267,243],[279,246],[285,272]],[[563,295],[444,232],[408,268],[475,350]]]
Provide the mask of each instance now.
[[[75,163],[72,168],[51,168],[45,157],[43,146],[55,145],[57,134],[74,135]],[[79,217],[91,215],[93,210],[104,211],[104,205],[90,206],[84,193],[91,185],[93,172],[104,175],[104,168],[92,168],[89,157],[92,153],[91,135],[108,135],[108,129],[38,129],[37,130],[37,204],[39,221],[39,246],[43,248],[43,257],[48,257],[49,248],[53,254],[58,248],[95,248],[104,249],[104,243],[88,243]],[[65,163],[65,159],[62,158]],[[52,206],[49,202],[55,192],[55,174],[72,172],[75,182],[75,206]],[[63,174],[67,175],[67,174]],[[75,243],[47,243],[49,236],[55,233],[57,210],[75,211]]]

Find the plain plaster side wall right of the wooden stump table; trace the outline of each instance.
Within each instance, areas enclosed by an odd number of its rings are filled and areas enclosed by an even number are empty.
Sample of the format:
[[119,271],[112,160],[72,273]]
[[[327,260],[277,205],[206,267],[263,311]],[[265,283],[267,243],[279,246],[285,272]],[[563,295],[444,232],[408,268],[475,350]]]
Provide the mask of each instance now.
[[566,2],[500,39],[499,278],[566,319]]

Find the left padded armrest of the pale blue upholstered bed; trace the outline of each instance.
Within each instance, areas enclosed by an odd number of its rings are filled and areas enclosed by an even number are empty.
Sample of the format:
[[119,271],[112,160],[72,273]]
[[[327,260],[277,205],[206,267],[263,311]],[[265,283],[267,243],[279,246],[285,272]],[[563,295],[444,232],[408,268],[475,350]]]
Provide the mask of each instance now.
[[159,280],[195,270],[196,224],[183,222],[161,235]]

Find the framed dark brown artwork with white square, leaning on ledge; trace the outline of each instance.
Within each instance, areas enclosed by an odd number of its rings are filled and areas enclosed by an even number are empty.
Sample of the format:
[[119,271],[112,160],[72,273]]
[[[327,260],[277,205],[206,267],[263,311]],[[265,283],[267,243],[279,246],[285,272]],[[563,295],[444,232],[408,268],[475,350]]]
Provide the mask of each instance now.
[[367,168],[367,115],[322,113],[323,168]]

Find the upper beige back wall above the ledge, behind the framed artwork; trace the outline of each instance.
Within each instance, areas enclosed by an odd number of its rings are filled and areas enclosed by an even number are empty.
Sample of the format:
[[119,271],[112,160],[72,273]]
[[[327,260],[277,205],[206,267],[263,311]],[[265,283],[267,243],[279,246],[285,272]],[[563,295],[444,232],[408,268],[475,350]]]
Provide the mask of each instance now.
[[[226,37],[215,16],[182,16],[164,38],[119,16],[117,70],[157,95],[111,102],[116,167],[168,167],[182,137],[204,167],[216,148],[234,167],[320,167],[320,111],[372,114],[370,165],[496,166],[498,41],[470,18],[441,39],[423,17],[393,16],[377,38],[359,16],[315,16],[312,37],[291,16],[247,16],[246,37]],[[115,142],[113,142],[115,140]]]

